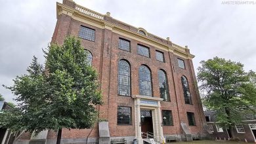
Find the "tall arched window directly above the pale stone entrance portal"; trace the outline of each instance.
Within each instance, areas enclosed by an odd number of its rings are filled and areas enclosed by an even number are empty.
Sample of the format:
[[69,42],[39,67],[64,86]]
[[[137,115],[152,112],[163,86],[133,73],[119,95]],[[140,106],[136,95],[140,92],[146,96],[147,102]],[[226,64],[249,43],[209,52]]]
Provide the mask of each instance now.
[[151,73],[145,65],[139,68],[139,88],[141,96],[152,97]]

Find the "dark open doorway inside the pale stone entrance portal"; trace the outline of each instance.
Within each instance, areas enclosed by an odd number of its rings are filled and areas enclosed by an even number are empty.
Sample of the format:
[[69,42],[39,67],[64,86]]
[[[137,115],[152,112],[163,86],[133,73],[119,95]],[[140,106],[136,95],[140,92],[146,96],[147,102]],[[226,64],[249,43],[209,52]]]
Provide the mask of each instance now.
[[142,138],[153,138],[152,111],[142,110],[140,114]]

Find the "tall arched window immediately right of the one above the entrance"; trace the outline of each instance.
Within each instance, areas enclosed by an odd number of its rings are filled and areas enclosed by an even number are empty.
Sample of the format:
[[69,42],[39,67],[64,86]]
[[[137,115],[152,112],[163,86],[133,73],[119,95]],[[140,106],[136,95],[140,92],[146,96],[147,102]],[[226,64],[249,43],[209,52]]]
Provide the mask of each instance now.
[[168,87],[168,82],[166,79],[166,74],[161,69],[158,69],[158,83],[159,83],[160,97],[164,101],[170,101],[169,87]]

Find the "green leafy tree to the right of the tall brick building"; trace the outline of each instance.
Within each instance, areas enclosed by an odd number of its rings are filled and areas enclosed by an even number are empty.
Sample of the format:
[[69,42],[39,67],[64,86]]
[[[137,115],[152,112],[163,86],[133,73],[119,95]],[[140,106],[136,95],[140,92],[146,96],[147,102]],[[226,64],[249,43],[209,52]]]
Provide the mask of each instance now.
[[228,128],[232,137],[234,124],[242,123],[245,113],[255,113],[255,73],[246,73],[242,63],[218,57],[200,63],[198,81],[203,104],[217,111],[217,122]]

